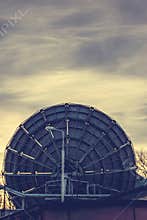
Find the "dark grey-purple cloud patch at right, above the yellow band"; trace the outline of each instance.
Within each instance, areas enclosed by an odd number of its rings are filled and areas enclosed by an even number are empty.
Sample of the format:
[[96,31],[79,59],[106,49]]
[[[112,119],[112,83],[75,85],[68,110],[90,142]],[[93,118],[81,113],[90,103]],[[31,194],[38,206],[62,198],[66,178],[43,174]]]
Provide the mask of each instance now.
[[144,44],[145,42],[126,36],[84,42],[74,54],[74,65],[79,68],[102,68],[108,73],[114,73],[123,62],[139,53]]

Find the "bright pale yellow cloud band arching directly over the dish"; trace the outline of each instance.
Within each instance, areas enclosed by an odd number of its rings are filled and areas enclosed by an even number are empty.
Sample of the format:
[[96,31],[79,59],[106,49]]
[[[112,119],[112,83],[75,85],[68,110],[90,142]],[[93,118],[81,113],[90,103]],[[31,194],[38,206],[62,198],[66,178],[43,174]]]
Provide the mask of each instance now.
[[[9,94],[2,94],[5,96],[5,104],[0,112],[3,115],[0,125],[4,137],[3,146],[10,134],[13,134],[12,131],[33,112],[64,102],[83,103],[101,109],[118,121],[134,145],[145,143],[143,129],[146,122],[141,119],[145,113],[137,113],[137,109],[143,105],[140,100],[145,98],[147,81],[89,71],[78,74],[69,70],[56,72],[55,75],[41,72],[30,78],[23,77],[23,81],[21,77],[17,77],[5,82],[3,91],[9,88]],[[10,132],[6,131],[8,127]]]

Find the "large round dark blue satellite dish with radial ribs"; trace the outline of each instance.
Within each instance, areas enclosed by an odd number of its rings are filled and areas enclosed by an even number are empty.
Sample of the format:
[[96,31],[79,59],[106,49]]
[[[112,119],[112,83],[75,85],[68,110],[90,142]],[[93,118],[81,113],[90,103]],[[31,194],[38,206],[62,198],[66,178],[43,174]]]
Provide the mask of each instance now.
[[80,104],[41,109],[6,148],[6,186],[51,199],[103,197],[135,187],[135,156],[122,128]]

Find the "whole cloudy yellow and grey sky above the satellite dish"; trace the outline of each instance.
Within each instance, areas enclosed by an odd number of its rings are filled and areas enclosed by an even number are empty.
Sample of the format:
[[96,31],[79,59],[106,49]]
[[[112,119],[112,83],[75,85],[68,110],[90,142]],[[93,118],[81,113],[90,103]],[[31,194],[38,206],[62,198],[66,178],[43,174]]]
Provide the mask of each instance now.
[[147,1],[0,0],[0,158],[18,125],[94,106],[147,149]]

